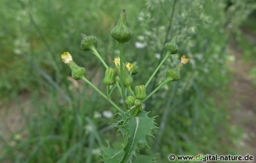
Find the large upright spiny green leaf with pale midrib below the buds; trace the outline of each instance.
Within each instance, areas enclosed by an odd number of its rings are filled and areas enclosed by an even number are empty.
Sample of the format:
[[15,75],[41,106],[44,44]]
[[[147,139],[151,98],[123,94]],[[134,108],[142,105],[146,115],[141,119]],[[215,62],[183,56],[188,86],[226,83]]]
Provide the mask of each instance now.
[[123,148],[124,157],[120,163],[132,163],[133,156],[138,150],[138,145],[145,145],[148,147],[146,142],[147,136],[153,136],[152,130],[157,128],[154,124],[155,117],[148,117],[149,112],[140,112],[137,117],[129,115],[127,122],[120,127],[127,130],[128,142]]

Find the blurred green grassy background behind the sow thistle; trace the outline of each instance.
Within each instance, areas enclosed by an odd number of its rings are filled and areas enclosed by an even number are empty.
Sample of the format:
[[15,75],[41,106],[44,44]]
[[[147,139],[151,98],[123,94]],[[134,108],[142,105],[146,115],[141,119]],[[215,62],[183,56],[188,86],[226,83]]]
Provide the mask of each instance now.
[[[256,1],[174,2],[2,0],[0,161],[100,162],[107,141],[122,148],[121,134],[108,124],[116,110],[82,81],[69,79],[70,69],[60,58],[70,52],[104,92],[105,68],[80,49],[80,33],[96,36],[98,52],[114,67],[118,43],[110,31],[122,8],[134,34],[124,46],[124,61],[137,61],[140,67],[132,88],[146,83],[164,56],[162,46],[174,36],[180,51],[161,67],[147,91],[165,79],[182,55],[191,58],[180,81],[164,86],[146,103],[150,116],[159,115],[161,128],[154,131],[156,139],[148,139],[151,150],[142,146],[140,153],[159,152],[159,163],[168,162],[171,153],[240,154],[245,131],[230,120],[229,85],[235,72],[228,63],[236,56],[228,48],[232,44],[241,52],[255,86]],[[113,94],[112,100],[121,105],[120,96]],[[235,107],[242,110],[239,105]]]

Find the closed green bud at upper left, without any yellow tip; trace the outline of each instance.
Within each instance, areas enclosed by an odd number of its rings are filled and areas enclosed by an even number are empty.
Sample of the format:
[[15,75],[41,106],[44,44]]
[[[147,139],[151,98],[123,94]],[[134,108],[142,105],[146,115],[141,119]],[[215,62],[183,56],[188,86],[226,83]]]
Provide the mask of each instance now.
[[81,49],[87,51],[91,50],[91,47],[97,47],[98,40],[94,36],[87,36],[86,34],[82,34],[82,41],[81,41]]

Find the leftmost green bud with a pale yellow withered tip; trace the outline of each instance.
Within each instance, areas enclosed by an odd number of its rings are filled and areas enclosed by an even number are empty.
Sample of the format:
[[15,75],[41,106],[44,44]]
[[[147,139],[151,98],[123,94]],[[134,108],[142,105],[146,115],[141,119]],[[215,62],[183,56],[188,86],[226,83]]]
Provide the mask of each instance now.
[[74,61],[69,52],[64,52],[62,54],[62,61],[70,67],[72,73],[71,76],[78,80],[85,76],[86,70],[84,67],[79,67]]

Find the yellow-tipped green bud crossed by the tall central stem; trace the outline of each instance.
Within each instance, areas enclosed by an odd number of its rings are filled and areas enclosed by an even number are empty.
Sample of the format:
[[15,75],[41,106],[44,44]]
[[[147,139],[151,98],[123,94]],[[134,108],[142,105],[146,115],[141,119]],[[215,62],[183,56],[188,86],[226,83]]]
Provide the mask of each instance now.
[[[120,76],[120,59],[115,58],[113,61],[116,64],[116,72]],[[132,77],[130,76],[126,64],[123,63],[123,84],[124,87],[129,87],[132,84]]]

